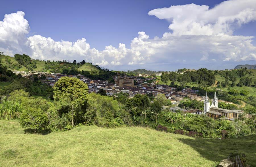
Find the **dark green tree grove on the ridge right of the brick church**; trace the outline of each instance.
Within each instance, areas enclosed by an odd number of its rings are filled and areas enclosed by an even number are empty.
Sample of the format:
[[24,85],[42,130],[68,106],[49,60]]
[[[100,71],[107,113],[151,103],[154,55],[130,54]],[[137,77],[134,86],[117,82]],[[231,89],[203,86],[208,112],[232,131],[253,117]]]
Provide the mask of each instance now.
[[206,68],[200,68],[196,71],[185,71],[183,74],[178,74],[177,72],[162,72],[161,80],[165,83],[168,80],[177,81],[180,83],[200,83],[202,85],[212,85],[215,83],[215,76]]

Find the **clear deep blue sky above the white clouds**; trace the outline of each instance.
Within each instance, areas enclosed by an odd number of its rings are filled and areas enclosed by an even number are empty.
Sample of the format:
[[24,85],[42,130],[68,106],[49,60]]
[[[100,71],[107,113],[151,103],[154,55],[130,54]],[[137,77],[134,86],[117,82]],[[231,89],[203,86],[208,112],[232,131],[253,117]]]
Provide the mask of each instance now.
[[[130,45],[139,31],[150,37],[162,37],[170,24],[148,16],[155,8],[171,5],[214,5],[222,1],[170,1],[170,0],[131,0],[131,1],[3,1],[0,10],[1,20],[5,14],[25,12],[31,33],[51,37],[55,41],[75,42],[86,38],[92,47],[103,50],[105,46]],[[252,30],[253,28],[251,28]],[[254,32],[255,34],[255,32]]]

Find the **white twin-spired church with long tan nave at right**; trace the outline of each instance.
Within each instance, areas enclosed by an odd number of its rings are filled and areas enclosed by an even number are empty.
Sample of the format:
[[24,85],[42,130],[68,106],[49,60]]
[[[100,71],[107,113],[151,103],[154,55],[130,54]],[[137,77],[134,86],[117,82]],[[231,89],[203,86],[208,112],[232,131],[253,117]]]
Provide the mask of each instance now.
[[212,97],[212,104],[210,105],[210,98],[207,93],[204,98],[204,114],[213,119],[227,119],[233,121],[235,118],[239,117],[239,114],[243,113],[241,110],[227,110],[219,108],[218,97],[216,96],[216,91]]

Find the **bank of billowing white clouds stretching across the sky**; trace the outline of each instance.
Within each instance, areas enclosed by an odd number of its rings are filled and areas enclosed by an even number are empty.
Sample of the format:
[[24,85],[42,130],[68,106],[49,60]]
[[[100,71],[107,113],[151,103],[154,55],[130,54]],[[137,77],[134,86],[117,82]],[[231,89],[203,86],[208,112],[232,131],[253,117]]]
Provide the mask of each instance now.
[[256,20],[255,0],[224,1],[211,9],[206,5],[177,5],[151,10],[148,15],[169,20],[172,32],[150,38],[141,31],[130,48],[119,43],[117,48],[110,45],[100,51],[91,48],[85,38],[70,42],[29,36],[25,13],[18,11],[0,21],[0,51],[26,53],[33,59],[85,60],[104,67],[256,60],[256,46],[251,43],[254,37],[233,35],[242,24]]

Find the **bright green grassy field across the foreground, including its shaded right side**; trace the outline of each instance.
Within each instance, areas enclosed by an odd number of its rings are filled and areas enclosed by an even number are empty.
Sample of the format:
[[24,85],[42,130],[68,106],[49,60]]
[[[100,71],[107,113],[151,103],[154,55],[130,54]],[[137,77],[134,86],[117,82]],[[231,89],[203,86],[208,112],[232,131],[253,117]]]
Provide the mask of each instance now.
[[24,134],[18,121],[0,120],[1,166],[216,166],[230,152],[256,164],[255,135],[215,140],[142,127],[77,127],[47,135]]

